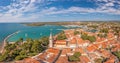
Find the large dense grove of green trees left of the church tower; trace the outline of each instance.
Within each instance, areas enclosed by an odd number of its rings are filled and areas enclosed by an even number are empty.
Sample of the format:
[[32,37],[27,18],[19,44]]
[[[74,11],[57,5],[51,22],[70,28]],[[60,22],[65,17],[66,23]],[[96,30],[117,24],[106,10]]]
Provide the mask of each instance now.
[[40,40],[26,39],[26,42],[19,44],[23,41],[22,38],[18,42],[5,46],[5,52],[0,55],[0,61],[13,61],[22,60],[26,57],[36,55],[46,48],[43,48],[41,44],[48,45],[48,37],[43,37]]

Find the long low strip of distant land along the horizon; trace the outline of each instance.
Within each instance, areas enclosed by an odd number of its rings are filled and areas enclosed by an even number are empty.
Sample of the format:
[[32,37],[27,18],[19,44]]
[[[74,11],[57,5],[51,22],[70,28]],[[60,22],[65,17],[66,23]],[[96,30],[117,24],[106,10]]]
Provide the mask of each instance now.
[[90,23],[93,24],[120,24],[120,21],[70,21],[70,22],[32,22],[32,23],[22,23],[27,26],[42,26],[42,25],[88,25]]

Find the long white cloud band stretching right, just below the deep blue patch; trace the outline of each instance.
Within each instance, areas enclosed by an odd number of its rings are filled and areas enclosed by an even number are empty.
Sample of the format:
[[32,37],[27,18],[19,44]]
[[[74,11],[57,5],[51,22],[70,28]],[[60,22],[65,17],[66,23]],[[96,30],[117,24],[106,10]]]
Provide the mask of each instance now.
[[58,9],[56,7],[50,7],[48,9],[44,9],[42,10],[42,12],[40,12],[40,14],[42,15],[51,15],[51,14],[77,14],[77,13],[107,13],[107,14],[120,14],[120,11],[118,9],[115,8],[111,8],[111,7],[98,7],[98,8],[83,8],[83,7],[75,7],[72,6],[68,9]]

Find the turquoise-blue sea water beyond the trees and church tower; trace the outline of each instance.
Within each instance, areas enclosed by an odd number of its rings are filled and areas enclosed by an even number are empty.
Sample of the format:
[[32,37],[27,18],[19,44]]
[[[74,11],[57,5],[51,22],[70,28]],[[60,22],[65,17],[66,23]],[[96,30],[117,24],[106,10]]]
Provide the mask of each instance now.
[[39,39],[43,36],[49,36],[58,34],[63,29],[67,29],[64,26],[57,25],[43,25],[43,26],[26,26],[21,23],[0,23],[0,42],[10,34],[13,34],[7,39],[8,42],[16,42],[20,38],[26,40],[27,38]]

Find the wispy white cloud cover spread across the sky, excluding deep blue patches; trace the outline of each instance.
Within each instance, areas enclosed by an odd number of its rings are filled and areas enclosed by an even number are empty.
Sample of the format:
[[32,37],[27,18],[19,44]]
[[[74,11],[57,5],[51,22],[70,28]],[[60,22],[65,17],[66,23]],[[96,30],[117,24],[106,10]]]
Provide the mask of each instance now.
[[[80,6],[70,6],[60,8],[51,5],[59,0],[13,0],[5,7],[0,7],[0,22],[18,22],[40,20],[46,15],[67,15],[67,14],[87,14],[87,13],[105,13],[120,15],[119,0],[91,0],[97,5],[96,8],[85,8]],[[64,0],[63,0],[64,1]],[[69,0],[68,0],[69,1]],[[78,1],[78,0],[75,0]],[[117,4],[116,4],[117,3]],[[117,8],[115,8],[117,7]],[[55,16],[54,16],[55,17]]]

